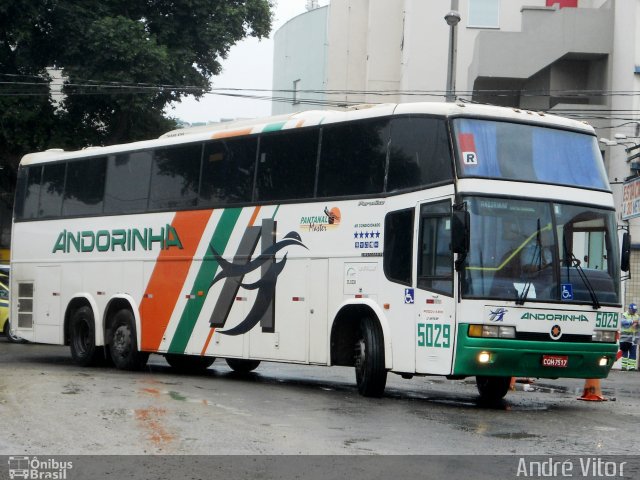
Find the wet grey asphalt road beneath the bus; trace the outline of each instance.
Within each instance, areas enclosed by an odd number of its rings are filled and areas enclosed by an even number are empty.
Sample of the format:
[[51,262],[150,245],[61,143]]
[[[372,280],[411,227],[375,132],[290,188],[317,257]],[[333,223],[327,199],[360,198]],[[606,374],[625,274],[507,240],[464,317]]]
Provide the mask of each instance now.
[[239,376],[216,360],[179,375],[154,355],[131,373],[0,337],[0,455],[640,452],[640,373],[601,385],[607,402],[578,401],[584,382],[565,379],[518,383],[487,406],[473,379],[390,375],[385,396],[369,399],[347,368],[263,363]]

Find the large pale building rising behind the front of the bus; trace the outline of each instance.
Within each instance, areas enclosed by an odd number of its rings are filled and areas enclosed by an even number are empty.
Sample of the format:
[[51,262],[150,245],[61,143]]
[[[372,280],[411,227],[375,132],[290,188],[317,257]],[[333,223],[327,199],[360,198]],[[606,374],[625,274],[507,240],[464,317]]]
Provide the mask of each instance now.
[[[637,173],[625,147],[640,143],[639,0],[331,0],[276,32],[273,113],[444,100],[451,9],[457,98],[589,122],[621,205]],[[619,219],[638,243],[626,285],[638,301],[640,220]]]

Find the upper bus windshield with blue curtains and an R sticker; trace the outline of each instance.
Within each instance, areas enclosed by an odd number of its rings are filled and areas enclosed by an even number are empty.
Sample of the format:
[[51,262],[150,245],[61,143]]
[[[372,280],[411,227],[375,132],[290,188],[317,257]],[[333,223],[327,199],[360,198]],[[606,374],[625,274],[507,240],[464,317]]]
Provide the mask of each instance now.
[[593,135],[469,118],[455,119],[453,125],[460,177],[609,190]]

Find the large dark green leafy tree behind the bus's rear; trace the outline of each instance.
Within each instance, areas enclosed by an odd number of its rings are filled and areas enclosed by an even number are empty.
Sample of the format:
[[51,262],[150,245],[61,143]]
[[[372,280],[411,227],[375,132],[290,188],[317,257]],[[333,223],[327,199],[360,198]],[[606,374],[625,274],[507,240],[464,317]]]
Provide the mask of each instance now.
[[[272,0],[0,2],[0,175],[30,151],[173,128],[165,106],[200,97],[232,45],[268,35],[271,8]],[[65,79],[59,104],[53,68]]]

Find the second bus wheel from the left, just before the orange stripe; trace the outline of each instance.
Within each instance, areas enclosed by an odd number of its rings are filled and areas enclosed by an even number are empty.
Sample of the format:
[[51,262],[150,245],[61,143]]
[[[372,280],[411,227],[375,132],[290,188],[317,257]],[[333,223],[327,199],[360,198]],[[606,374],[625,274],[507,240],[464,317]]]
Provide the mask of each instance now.
[[111,331],[109,353],[116,368],[120,370],[140,370],[144,368],[149,359],[149,354],[138,351],[135,322],[131,311],[122,309],[117,312],[113,317]]

